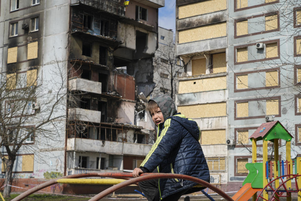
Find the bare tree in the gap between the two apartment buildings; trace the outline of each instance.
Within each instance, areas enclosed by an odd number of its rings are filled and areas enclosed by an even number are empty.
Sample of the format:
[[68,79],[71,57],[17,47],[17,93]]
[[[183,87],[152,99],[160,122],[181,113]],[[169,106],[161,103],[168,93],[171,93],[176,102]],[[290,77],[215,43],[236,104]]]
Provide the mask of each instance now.
[[[173,99],[177,92],[177,80],[184,71],[184,66],[175,55],[175,44],[161,45],[153,58],[154,65],[154,94],[168,94]],[[187,65],[187,64],[186,64]]]

